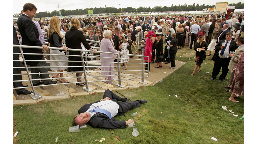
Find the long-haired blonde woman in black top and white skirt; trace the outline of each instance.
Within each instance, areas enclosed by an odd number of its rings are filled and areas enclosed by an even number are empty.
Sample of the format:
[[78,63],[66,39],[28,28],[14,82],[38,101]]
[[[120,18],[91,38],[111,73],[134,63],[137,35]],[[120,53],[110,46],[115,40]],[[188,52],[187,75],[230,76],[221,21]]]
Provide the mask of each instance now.
[[[59,21],[60,20],[57,16],[53,16],[51,18],[50,28],[48,30],[48,42],[50,43],[50,47],[63,48],[63,50],[67,51],[67,47],[62,46],[62,42],[61,42],[62,36],[60,34]],[[63,73],[60,73],[60,72],[63,72],[63,70],[68,68],[68,59],[65,56],[65,53],[63,52],[63,50],[50,49],[50,54],[58,54],[58,55],[50,56],[50,60],[54,60],[50,62],[50,66],[63,66],[63,67],[51,67],[51,70],[57,71],[57,73],[53,75],[53,78],[58,78],[58,76],[60,75],[60,77],[62,78],[61,81],[63,83],[69,83],[69,81],[65,81],[65,79],[63,78],[64,77]],[[61,62],[61,61],[65,61],[65,62]],[[56,79],[56,80],[60,81],[59,79]]]

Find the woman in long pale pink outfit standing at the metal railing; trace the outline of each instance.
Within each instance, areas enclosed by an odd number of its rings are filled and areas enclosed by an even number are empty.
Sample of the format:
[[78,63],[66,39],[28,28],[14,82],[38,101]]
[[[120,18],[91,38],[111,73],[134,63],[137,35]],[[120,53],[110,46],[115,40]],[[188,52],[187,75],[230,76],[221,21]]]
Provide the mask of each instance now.
[[[120,51],[117,51],[111,41],[110,38],[112,36],[112,32],[110,30],[105,30],[103,32],[103,39],[101,40],[100,43],[100,51],[101,52],[111,52],[111,53],[118,53],[121,54],[121,56],[123,56],[123,53]],[[101,66],[101,71],[102,71],[102,75],[104,76],[104,78],[106,80],[112,80],[113,78],[115,78],[114,76],[108,76],[108,75],[114,75],[115,72],[115,68],[114,68],[114,59],[113,59],[113,54],[106,54],[106,53],[100,53],[100,57],[109,57],[109,58],[100,58],[100,61],[102,63],[100,63]],[[104,63],[103,63],[104,62]],[[111,71],[111,72],[104,72],[104,71]],[[107,81],[107,83],[112,84],[112,81]]]

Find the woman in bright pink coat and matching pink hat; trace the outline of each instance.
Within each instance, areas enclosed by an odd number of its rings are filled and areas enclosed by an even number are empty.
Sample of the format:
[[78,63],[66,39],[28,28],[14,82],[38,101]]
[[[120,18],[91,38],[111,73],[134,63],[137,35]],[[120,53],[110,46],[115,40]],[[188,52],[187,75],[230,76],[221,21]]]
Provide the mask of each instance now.
[[[147,57],[144,57],[144,60],[145,60],[145,62],[148,62],[148,60],[149,60],[149,66],[148,66],[148,64],[146,64],[145,70],[150,71],[150,62],[151,62],[152,56],[153,56],[152,55],[153,43],[151,41],[151,38],[156,37],[156,35],[154,34],[154,32],[149,31],[148,34],[146,35],[146,37],[148,37],[148,38],[146,39],[146,47],[145,47],[144,55],[149,56],[149,59]],[[148,72],[148,73],[150,73],[150,72]]]

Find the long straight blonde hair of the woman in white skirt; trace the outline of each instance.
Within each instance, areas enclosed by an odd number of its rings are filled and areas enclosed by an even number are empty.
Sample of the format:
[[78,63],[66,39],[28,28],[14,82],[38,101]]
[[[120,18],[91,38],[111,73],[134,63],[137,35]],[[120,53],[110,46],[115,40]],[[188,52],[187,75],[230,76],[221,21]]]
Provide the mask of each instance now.
[[53,16],[51,17],[51,21],[50,21],[50,28],[48,30],[48,38],[49,36],[53,34],[53,32],[57,32],[57,34],[59,35],[59,37],[62,38],[61,34],[60,34],[60,24],[59,24],[59,17],[57,16]]

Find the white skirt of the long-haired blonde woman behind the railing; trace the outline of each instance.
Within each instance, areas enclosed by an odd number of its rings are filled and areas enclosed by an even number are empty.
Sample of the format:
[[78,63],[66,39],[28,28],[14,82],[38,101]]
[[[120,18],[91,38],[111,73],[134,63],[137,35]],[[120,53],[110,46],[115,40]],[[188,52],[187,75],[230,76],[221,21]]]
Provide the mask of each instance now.
[[[60,52],[59,50],[52,50],[50,49],[50,54],[61,54],[65,55],[65,53],[62,51]],[[55,60],[53,62],[50,62],[51,66],[62,66],[62,67],[51,67],[51,70],[65,70],[68,68],[68,59],[66,56],[56,56],[56,55],[51,55],[50,60]],[[60,61],[66,61],[66,62],[60,62]]]

